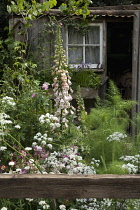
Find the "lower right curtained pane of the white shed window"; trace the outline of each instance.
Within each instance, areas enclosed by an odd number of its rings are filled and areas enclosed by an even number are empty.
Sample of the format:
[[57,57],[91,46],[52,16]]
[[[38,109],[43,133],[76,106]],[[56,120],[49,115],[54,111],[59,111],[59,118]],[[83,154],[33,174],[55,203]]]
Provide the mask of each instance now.
[[85,63],[100,63],[100,47],[86,47]]

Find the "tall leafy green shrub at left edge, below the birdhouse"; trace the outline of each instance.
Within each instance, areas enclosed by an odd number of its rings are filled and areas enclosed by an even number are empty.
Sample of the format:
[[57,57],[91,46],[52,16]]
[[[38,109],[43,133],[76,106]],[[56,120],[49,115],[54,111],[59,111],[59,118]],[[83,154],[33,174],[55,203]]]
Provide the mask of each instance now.
[[[1,110],[8,111],[15,125],[22,127],[19,135],[16,129],[11,134],[26,146],[38,132],[38,117],[50,110],[51,101],[47,90],[43,90],[41,82],[34,78],[37,65],[26,59],[24,43],[8,38],[1,42],[1,55],[1,97],[9,96],[16,102],[14,110],[6,110],[1,103]],[[5,60],[8,62],[4,63]]]

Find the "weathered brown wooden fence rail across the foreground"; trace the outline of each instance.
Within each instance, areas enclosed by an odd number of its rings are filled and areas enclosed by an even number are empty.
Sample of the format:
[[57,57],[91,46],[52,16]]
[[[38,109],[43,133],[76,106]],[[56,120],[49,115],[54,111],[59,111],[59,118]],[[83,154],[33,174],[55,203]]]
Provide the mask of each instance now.
[[0,198],[140,198],[140,175],[0,174]]

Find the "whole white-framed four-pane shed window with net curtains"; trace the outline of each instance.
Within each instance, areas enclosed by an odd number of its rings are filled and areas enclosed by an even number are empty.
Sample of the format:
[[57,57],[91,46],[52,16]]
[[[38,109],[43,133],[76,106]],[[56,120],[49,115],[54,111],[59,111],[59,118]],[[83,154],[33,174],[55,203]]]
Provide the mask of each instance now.
[[82,35],[69,26],[66,37],[66,52],[68,64],[71,67],[78,67],[83,64],[85,68],[101,68],[103,29],[102,24],[91,24],[86,35]]

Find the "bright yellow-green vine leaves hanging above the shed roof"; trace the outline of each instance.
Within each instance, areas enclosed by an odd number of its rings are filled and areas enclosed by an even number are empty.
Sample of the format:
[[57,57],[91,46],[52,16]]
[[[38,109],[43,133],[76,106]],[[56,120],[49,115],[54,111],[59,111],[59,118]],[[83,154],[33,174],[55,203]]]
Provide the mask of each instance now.
[[[86,18],[89,15],[88,6],[90,1],[88,0],[78,0],[78,1],[68,1],[60,5],[60,10],[66,14],[76,14],[82,15]],[[43,3],[38,3],[38,1],[25,1],[25,0],[13,0],[11,4],[7,5],[7,10],[9,13],[14,12],[15,14],[21,14],[26,21],[34,20],[37,16],[41,15],[43,12],[48,11],[57,5],[56,0],[49,0]]]

